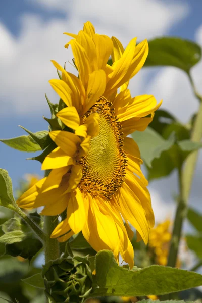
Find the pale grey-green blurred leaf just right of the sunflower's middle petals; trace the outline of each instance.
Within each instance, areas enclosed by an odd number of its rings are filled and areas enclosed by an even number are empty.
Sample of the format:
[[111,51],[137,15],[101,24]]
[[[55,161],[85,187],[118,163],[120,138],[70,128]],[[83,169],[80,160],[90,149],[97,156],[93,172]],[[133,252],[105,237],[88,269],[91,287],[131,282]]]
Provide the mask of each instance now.
[[159,158],[164,150],[169,149],[175,141],[173,135],[168,140],[162,138],[154,129],[147,127],[145,131],[136,131],[132,134],[138,144],[141,156],[148,167],[155,158]]

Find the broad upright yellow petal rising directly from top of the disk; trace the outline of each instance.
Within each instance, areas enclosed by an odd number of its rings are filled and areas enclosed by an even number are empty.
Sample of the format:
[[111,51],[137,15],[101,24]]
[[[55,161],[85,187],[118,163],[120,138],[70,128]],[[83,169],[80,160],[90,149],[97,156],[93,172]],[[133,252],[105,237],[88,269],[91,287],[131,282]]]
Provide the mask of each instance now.
[[106,87],[106,74],[103,70],[97,70],[89,74],[88,87],[86,92],[86,106],[84,111],[87,112],[91,106],[103,95]]

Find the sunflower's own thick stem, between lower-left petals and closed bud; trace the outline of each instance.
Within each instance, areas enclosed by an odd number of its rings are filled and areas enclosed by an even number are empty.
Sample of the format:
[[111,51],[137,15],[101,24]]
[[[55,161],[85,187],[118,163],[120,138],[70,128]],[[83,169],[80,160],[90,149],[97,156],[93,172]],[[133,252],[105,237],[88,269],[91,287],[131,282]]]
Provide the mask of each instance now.
[[57,217],[52,217],[52,216],[44,217],[44,231],[46,235],[44,242],[45,263],[60,258],[59,242],[57,241],[57,239],[50,238],[53,230],[57,225],[58,225]]

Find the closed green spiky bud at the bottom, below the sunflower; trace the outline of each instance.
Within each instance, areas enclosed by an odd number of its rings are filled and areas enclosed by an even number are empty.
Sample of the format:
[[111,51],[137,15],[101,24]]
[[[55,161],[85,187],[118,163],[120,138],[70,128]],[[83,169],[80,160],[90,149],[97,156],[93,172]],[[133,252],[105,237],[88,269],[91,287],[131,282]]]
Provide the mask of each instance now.
[[46,295],[57,303],[82,303],[92,290],[88,257],[50,261],[43,267]]

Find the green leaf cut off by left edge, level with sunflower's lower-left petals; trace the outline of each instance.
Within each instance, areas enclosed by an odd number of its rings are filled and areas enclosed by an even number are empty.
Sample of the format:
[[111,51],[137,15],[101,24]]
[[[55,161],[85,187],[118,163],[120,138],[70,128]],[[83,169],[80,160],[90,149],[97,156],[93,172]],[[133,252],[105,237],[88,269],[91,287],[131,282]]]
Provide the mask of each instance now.
[[12,181],[7,170],[0,168],[0,205],[15,210]]

